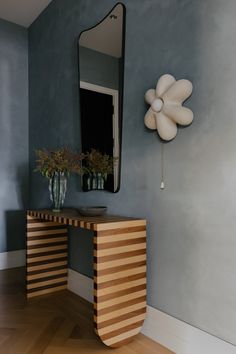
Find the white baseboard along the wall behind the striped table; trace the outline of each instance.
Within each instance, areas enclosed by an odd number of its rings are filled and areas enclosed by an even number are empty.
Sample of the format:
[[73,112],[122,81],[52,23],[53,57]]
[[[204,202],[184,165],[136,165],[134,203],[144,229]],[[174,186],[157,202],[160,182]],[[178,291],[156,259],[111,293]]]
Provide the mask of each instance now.
[[[93,302],[93,280],[69,269],[68,289]],[[236,347],[147,306],[142,333],[176,354],[236,354]]]

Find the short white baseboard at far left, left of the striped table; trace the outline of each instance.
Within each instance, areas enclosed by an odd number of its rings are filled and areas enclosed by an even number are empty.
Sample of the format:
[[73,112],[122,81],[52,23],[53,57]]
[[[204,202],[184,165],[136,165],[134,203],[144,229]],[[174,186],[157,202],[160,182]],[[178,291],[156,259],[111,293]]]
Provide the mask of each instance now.
[[0,270],[25,266],[25,250],[0,253]]

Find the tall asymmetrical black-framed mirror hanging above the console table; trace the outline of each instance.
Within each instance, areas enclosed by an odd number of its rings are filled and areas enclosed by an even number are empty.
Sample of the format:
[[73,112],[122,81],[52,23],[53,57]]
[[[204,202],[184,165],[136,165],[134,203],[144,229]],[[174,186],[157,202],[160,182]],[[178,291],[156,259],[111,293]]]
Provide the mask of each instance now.
[[81,148],[93,149],[112,161],[102,184],[85,173],[83,191],[120,189],[124,83],[125,6],[116,4],[96,26],[78,39]]

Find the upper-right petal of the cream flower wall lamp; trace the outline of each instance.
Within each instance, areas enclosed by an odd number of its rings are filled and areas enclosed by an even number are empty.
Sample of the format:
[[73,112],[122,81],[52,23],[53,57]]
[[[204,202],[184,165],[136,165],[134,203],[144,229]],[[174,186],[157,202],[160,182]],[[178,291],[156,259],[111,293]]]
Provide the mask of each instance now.
[[163,95],[164,103],[182,104],[192,93],[193,85],[189,80],[176,81]]

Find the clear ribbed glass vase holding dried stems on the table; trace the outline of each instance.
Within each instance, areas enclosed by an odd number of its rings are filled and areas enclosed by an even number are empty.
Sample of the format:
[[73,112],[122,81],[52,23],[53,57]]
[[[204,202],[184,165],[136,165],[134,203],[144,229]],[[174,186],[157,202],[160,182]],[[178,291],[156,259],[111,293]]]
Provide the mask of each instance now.
[[64,172],[54,172],[49,180],[50,199],[53,212],[60,212],[64,205],[67,190],[67,176]]

